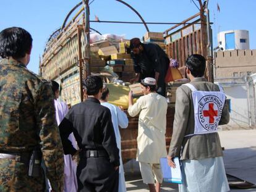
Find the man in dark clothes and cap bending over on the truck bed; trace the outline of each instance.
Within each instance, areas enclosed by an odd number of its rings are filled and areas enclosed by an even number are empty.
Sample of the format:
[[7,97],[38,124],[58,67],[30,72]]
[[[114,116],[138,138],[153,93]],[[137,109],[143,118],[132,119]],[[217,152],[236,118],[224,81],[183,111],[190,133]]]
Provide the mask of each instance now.
[[139,38],[130,40],[130,54],[134,60],[135,78],[130,82],[141,81],[146,77],[156,80],[156,92],[166,96],[165,76],[169,67],[169,58],[163,49],[155,43],[141,43]]

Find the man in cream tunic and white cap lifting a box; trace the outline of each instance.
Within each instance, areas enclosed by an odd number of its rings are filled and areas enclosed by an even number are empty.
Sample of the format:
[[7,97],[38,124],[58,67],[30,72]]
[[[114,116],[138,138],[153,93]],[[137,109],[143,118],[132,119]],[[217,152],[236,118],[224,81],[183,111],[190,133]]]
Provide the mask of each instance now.
[[[166,132],[166,98],[156,93],[156,80],[147,77],[141,81],[144,96],[133,103],[132,91],[129,92],[128,113],[134,117],[139,115],[137,161],[143,183],[148,184],[150,192],[160,191],[163,174],[160,158],[167,156]],[[156,185],[155,185],[156,178]]]

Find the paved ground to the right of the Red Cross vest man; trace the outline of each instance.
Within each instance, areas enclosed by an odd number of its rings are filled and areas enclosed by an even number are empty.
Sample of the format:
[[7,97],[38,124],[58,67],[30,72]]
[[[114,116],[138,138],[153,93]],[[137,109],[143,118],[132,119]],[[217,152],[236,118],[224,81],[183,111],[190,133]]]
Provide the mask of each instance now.
[[221,131],[220,139],[226,172],[256,184],[256,130]]

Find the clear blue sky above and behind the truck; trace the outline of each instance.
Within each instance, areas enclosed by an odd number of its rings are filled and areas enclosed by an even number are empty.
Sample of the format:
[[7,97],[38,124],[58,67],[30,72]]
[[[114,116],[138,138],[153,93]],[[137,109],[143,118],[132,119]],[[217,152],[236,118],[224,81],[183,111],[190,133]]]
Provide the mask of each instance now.
[[[82,1],[82,0],[81,0]],[[134,7],[146,22],[181,22],[198,12],[192,0],[124,0]],[[197,0],[194,0],[197,2]],[[7,27],[22,27],[33,37],[33,49],[28,69],[38,73],[39,56],[54,30],[61,27],[72,7],[80,0],[1,0],[0,31]],[[91,0],[92,2],[92,0]],[[220,12],[216,4],[220,5]],[[214,22],[213,43],[218,30],[249,30],[250,49],[256,49],[255,0],[210,0],[210,20]],[[139,17],[128,7],[114,0],[95,0],[90,5],[91,20],[136,21]],[[142,37],[143,25],[91,23],[101,33]],[[164,31],[171,25],[148,25],[150,31]]]

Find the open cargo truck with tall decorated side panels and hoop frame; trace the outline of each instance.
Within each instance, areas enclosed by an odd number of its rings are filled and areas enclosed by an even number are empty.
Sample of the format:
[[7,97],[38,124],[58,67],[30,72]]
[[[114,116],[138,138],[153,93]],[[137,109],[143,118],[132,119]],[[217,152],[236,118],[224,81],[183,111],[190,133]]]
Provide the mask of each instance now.
[[[147,23],[143,20],[139,12],[124,1],[134,12],[139,15],[142,24],[145,25],[147,36],[153,34],[148,30]],[[212,38],[209,19],[209,10],[207,9],[208,1],[204,3],[199,0],[200,11],[183,20],[181,23],[162,31],[164,40],[164,49],[169,58],[176,59],[179,62],[179,70],[184,76],[184,66],[187,57],[190,54],[202,54],[207,59],[207,70],[205,77],[213,81],[213,57],[212,57]],[[79,10],[77,11],[77,9]],[[76,12],[74,17],[70,15]],[[83,0],[77,4],[69,14],[67,14],[62,27],[54,31],[49,37],[40,61],[40,75],[47,80],[56,80],[61,84],[61,99],[69,106],[73,106],[83,101],[82,80],[93,73],[100,74],[105,67],[105,62],[95,56],[95,49],[100,47],[90,44],[89,21],[90,7],[88,0]],[[67,22],[69,20],[69,22]],[[96,22],[96,21],[95,21]],[[98,32],[98,31],[97,31]],[[98,32],[99,33],[99,32]],[[98,46],[108,42],[98,43]],[[97,43],[96,43],[97,44]],[[120,50],[119,50],[120,51]],[[122,67],[115,66],[114,72],[124,81],[129,81],[134,77],[132,67],[124,71],[124,66],[131,66],[131,59],[126,60]],[[129,64],[128,64],[129,63]],[[169,148],[173,130],[173,120],[175,112],[175,88],[180,83],[170,83],[171,102],[168,104],[167,127],[166,127],[166,148]],[[121,129],[121,148],[122,159],[124,162],[134,159],[137,152],[137,127],[138,117],[129,117],[129,126]]]

